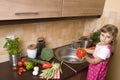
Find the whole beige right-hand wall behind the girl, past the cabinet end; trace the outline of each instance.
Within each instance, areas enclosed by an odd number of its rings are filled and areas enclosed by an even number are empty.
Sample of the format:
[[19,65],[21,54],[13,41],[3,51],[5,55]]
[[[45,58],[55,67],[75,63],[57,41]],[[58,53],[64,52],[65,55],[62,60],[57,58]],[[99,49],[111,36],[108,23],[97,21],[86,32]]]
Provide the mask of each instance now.
[[114,24],[118,27],[116,50],[110,59],[106,80],[120,80],[120,0],[106,0],[103,15],[99,19],[87,19],[85,21],[84,35],[89,35],[105,24]]

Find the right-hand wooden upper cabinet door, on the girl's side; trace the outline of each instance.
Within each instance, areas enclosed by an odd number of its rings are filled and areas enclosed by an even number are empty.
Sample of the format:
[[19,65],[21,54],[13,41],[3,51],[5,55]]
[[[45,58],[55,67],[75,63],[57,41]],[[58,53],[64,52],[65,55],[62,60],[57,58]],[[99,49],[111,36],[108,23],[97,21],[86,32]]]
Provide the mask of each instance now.
[[105,0],[63,0],[62,16],[101,15]]

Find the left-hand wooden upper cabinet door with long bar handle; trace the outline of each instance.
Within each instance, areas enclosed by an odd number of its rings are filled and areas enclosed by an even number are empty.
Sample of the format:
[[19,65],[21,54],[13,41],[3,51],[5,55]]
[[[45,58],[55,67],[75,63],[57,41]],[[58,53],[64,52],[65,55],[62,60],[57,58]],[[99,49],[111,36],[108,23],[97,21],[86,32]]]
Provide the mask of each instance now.
[[0,0],[0,20],[61,16],[62,0]]

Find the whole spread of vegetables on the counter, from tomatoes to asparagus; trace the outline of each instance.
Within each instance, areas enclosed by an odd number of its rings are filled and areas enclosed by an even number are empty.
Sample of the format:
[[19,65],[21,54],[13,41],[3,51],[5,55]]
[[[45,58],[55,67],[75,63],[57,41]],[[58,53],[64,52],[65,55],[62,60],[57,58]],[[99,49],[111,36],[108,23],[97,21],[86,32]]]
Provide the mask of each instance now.
[[36,63],[41,64],[42,66],[43,70],[41,70],[41,73],[39,74],[40,78],[42,79],[46,79],[46,80],[54,79],[56,74],[60,76],[60,72],[62,73],[62,70],[61,70],[62,62],[61,64],[55,63],[55,62],[50,63],[47,61],[33,59],[29,57],[21,58],[20,61],[18,62],[18,66],[13,67],[12,69],[14,71],[18,70],[19,75],[22,75],[22,73],[26,71],[33,70],[32,74],[36,76],[39,73],[39,67],[36,66]]

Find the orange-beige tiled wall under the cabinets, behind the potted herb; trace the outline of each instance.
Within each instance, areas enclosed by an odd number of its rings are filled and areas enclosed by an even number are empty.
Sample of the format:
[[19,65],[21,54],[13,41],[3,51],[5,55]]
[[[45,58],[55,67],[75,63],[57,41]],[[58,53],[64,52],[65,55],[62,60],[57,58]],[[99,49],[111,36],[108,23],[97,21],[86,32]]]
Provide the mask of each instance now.
[[0,62],[7,61],[8,53],[3,48],[5,37],[18,36],[26,55],[29,44],[36,44],[38,37],[44,37],[46,46],[55,48],[71,43],[80,38],[84,31],[84,20],[64,20],[54,22],[39,22],[31,24],[0,25]]

